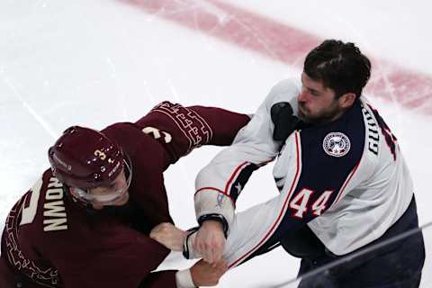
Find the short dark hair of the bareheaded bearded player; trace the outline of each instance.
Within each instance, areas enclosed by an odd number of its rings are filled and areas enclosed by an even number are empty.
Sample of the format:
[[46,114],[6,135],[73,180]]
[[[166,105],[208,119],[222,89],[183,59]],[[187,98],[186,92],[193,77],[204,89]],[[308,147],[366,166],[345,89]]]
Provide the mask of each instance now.
[[333,89],[336,97],[346,93],[359,97],[371,76],[371,61],[354,43],[325,40],[306,56],[304,73]]

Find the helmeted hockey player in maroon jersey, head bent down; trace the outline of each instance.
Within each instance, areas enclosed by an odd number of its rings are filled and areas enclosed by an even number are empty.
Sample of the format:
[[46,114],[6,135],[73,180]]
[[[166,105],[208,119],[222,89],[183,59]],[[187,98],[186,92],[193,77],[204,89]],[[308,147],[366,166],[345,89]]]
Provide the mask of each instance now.
[[148,237],[172,222],[163,172],[193,148],[229,145],[247,115],[159,103],[135,123],[74,126],[49,148],[51,168],[10,211],[1,287],[194,287],[226,264],[152,272],[169,250]]

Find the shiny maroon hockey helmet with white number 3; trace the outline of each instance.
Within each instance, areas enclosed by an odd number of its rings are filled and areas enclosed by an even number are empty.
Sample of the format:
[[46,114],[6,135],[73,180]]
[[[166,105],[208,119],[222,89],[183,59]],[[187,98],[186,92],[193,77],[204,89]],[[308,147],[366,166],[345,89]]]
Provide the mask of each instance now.
[[121,147],[97,130],[72,126],[48,154],[53,175],[84,191],[109,186],[125,166],[131,175],[130,160],[125,159]]

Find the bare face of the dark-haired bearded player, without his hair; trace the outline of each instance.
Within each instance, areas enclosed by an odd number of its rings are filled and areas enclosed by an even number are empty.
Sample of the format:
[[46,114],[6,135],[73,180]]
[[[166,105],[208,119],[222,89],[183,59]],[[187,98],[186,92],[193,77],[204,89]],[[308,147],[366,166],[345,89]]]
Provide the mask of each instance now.
[[344,111],[333,89],[302,73],[302,93],[298,96],[299,116],[308,123],[325,123],[338,118]]

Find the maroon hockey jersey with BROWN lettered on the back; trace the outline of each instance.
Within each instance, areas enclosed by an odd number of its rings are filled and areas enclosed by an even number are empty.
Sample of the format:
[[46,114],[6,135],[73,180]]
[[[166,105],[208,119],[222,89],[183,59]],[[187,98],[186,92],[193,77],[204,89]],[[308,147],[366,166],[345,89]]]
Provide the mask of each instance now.
[[105,128],[103,134],[130,157],[134,209],[86,211],[49,169],[9,213],[2,257],[35,287],[176,287],[175,271],[151,272],[169,252],[148,237],[158,223],[172,222],[163,172],[193,148],[229,145],[248,120],[218,108],[164,102],[135,123]]

